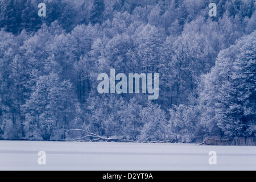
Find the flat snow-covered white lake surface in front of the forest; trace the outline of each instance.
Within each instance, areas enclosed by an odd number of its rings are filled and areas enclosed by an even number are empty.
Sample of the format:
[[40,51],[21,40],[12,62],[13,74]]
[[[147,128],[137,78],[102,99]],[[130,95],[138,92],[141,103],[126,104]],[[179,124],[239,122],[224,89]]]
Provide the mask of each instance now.
[[[39,151],[46,164],[39,165]],[[217,164],[209,164],[216,151]],[[0,141],[0,170],[256,170],[256,146]]]

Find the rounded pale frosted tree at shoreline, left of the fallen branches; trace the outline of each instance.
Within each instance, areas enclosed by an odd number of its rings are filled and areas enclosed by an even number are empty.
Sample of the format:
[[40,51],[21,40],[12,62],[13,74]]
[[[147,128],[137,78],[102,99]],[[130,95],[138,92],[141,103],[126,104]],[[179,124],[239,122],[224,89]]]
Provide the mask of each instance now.
[[68,129],[75,111],[72,85],[68,81],[60,82],[56,73],[41,76],[24,109],[29,138],[61,139],[61,131]]

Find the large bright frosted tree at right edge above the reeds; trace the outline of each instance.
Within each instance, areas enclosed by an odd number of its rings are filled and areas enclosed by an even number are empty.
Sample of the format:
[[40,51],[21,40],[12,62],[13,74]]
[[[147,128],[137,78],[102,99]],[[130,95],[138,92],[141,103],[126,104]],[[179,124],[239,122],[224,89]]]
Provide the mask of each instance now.
[[255,136],[255,35],[254,31],[221,51],[204,77],[200,99],[206,117],[201,123],[209,129],[219,127],[228,137]]

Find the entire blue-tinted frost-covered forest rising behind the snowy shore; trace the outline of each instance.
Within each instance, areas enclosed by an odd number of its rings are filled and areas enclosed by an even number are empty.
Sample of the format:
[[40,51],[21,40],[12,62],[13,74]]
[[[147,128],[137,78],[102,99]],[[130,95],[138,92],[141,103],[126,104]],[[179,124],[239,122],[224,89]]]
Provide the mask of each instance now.
[[[0,0],[0,139],[256,136],[255,0],[40,2]],[[158,100],[98,93],[110,69],[159,73]]]

